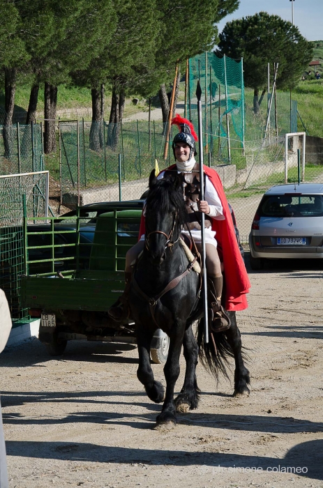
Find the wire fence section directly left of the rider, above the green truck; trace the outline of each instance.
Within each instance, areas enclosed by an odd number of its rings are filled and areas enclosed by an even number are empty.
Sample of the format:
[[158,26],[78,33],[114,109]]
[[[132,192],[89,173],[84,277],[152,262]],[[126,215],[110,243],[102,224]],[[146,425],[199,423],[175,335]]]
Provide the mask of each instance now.
[[[75,206],[80,192],[95,192],[93,201],[118,200],[119,183],[126,188],[125,199],[137,199],[156,160],[163,160],[165,127],[159,121],[61,121],[59,142],[63,204]],[[163,165],[173,160],[170,148]]]

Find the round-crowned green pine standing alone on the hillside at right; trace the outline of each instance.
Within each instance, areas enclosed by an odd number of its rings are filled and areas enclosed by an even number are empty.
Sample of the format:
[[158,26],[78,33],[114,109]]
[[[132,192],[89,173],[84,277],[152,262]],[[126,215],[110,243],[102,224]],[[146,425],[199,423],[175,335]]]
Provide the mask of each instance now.
[[219,37],[218,54],[243,57],[244,83],[254,90],[255,113],[266,93],[268,63],[279,63],[277,86],[284,89],[297,83],[313,59],[313,45],[301,36],[299,29],[266,12],[227,22]]

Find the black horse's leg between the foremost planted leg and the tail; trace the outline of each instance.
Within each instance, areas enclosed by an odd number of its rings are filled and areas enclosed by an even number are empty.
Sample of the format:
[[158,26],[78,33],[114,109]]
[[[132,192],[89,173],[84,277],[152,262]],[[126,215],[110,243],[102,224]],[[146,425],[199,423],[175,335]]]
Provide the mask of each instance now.
[[189,326],[184,334],[183,353],[186,360],[186,372],[183,388],[175,399],[176,411],[186,413],[188,410],[197,409],[200,391],[196,381],[196,365],[199,348],[195,340],[192,326]]

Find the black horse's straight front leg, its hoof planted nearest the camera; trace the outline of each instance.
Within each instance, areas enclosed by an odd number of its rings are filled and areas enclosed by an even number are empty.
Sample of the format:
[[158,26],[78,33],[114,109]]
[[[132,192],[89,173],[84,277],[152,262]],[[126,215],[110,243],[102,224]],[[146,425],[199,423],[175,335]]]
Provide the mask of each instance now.
[[[176,327],[174,326],[174,329]],[[157,417],[158,429],[173,429],[176,425],[176,407],[174,403],[174,388],[179,377],[179,356],[181,355],[181,346],[183,344],[185,326],[177,326],[177,333],[170,337],[170,350],[164,367],[166,379],[166,394],[163,410]]]

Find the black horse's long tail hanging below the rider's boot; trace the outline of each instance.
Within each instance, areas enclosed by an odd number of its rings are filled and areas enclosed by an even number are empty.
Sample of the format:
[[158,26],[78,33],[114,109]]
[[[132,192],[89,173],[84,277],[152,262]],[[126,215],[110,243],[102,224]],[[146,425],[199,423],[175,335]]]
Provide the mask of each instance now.
[[219,372],[227,379],[227,369],[230,369],[229,358],[234,358],[234,352],[225,331],[209,333],[209,342],[204,342],[204,317],[197,324],[197,344],[199,346],[199,358],[205,369],[208,369],[218,381]]

